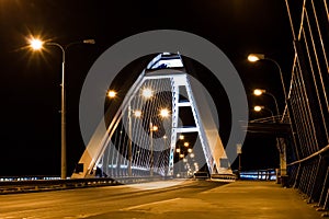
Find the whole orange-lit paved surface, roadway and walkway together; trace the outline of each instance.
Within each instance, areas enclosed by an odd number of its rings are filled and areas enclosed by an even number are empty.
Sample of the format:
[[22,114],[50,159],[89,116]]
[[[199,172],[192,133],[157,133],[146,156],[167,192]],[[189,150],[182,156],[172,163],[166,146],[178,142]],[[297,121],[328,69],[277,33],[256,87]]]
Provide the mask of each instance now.
[[190,180],[0,195],[0,219],[316,219],[320,214],[294,188],[273,181]]

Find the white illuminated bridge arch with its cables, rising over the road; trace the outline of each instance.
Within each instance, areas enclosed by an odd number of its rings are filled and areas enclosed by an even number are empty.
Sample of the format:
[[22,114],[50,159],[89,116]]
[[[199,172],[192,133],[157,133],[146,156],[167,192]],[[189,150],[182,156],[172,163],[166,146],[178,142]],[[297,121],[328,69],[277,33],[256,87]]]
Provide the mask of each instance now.
[[[72,177],[231,174],[205,89],[179,54],[163,53],[129,88],[106,128],[95,130]],[[196,94],[196,95],[195,95]]]

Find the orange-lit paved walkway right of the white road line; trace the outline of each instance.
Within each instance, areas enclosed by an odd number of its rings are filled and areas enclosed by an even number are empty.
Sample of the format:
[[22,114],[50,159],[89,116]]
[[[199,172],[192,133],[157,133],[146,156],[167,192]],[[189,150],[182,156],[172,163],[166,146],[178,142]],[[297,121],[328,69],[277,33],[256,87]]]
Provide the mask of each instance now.
[[[209,182],[212,183],[212,182]],[[215,182],[213,182],[215,183]],[[196,192],[198,186],[167,192],[163,200],[146,196],[141,205],[123,208],[104,216],[111,218],[147,219],[320,219],[322,212],[303,200],[294,188],[284,188],[274,181],[237,181]],[[177,196],[172,196],[177,193]],[[104,217],[104,218],[106,218]]]

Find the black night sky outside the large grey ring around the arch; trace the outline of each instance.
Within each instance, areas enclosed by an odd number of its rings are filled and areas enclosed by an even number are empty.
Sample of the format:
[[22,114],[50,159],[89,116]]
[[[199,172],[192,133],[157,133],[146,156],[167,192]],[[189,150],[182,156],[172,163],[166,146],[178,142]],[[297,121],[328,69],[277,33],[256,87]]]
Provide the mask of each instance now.
[[[231,60],[246,92],[265,88],[283,110],[275,66],[268,61],[252,65],[246,58],[249,53],[265,53],[280,62],[288,83],[293,45],[284,0],[0,0],[0,175],[59,175],[60,171],[60,51],[54,47],[42,55],[32,54],[26,49],[29,35],[61,45],[83,38],[97,42],[67,50],[70,174],[84,149],[78,107],[92,64],[121,39],[160,28],[185,31],[211,41]],[[250,106],[268,104],[274,110],[273,101],[266,96],[248,99]],[[260,115],[250,113],[250,117]],[[276,159],[272,142],[271,138],[248,137],[246,168],[274,165],[266,163],[268,158]]]

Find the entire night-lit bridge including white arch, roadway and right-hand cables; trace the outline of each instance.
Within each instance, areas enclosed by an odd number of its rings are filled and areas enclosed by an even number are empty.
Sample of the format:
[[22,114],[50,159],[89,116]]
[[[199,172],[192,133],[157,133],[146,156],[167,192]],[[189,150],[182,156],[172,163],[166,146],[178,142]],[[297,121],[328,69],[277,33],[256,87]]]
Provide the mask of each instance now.
[[[282,80],[284,112],[241,124],[241,131],[276,138],[275,181],[245,181],[234,172],[212,103],[201,95],[206,91],[189,74],[183,54],[163,51],[118,104],[110,88],[105,131],[95,129],[69,178],[0,184],[14,193],[0,196],[0,218],[328,216],[329,10],[325,0],[304,1],[298,13],[290,0],[286,8],[295,56],[290,84]],[[275,60],[258,58],[283,76]]]

